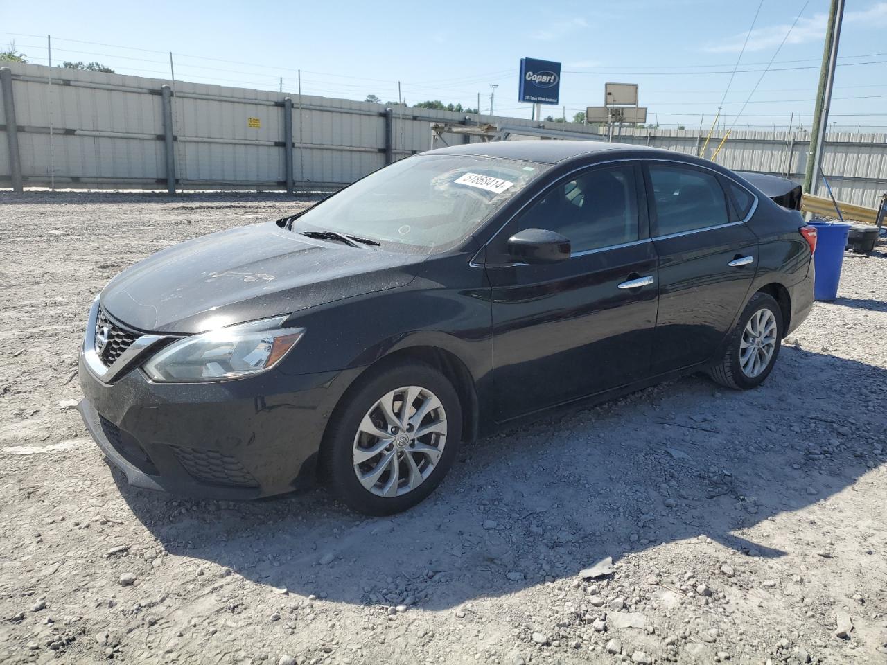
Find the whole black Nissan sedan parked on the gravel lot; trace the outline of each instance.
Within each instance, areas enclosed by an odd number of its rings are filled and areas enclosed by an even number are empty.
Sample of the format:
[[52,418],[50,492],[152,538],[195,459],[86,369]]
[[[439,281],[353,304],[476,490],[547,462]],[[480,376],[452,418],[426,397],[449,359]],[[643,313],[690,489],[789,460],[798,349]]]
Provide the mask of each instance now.
[[250,498],[319,477],[397,512],[519,417],[689,372],[756,387],[811,309],[815,241],[684,154],[436,150],[114,278],[82,417],[138,487]]

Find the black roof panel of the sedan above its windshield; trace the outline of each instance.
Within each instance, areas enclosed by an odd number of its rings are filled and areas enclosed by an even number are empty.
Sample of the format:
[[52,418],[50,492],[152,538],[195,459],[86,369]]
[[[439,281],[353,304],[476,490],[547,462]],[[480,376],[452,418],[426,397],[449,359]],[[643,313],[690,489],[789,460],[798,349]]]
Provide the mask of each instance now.
[[448,148],[431,150],[424,154],[475,154],[485,157],[503,157],[510,160],[537,161],[542,164],[557,164],[561,161],[577,157],[590,156],[596,153],[606,153],[608,158],[615,157],[619,153],[632,153],[632,156],[649,153],[652,155],[679,155],[686,158],[687,155],[674,153],[671,150],[661,148],[648,148],[646,145],[630,145],[623,143],[607,143],[605,141],[561,141],[561,140],[514,140],[514,141],[490,141],[487,143],[473,143],[452,145]]

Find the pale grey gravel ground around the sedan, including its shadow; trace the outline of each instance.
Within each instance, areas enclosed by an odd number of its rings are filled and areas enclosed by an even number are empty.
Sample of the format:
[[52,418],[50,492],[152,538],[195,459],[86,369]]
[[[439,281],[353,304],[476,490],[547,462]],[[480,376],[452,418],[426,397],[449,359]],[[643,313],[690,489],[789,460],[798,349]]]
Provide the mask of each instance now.
[[73,408],[94,294],[302,205],[0,194],[0,661],[887,663],[883,244],[763,387],[553,413],[393,518],[130,489]]

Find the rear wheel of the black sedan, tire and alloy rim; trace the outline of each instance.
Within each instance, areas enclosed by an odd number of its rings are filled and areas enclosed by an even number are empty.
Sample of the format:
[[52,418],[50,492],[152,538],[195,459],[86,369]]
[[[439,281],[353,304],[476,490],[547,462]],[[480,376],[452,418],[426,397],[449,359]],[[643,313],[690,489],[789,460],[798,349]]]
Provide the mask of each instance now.
[[[754,355],[756,353],[755,349],[752,348],[748,352],[746,349],[749,346],[744,346],[748,340],[755,339],[755,335],[751,334],[751,331],[749,337],[744,337],[752,317],[759,317],[757,323],[762,324],[762,331],[765,329],[769,330],[769,323],[771,321],[775,325],[772,333],[772,352],[769,356],[766,356],[765,350],[769,348],[769,340],[771,339],[770,335],[766,335],[761,338],[764,343],[760,347],[761,351],[757,352],[759,359],[757,366],[754,364],[754,358],[750,358],[750,363],[746,362],[746,353]],[[750,388],[760,386],[770,372],[773,371],[773,364],[776,363],[776,358],[779,356],[781,348],[782,333],[782,311],[779,303],[773,299],[773,296],[767,293],[755,293],[751,297],[749,304],[742,310],[742,316],[739,317],[739,321],[727,338],[724,356],[718,364],[710,367],[710,377],[720,385],[734,388],[735,390],[749,390]],[[766,356],[765,362],[761,360],[761,354]]]

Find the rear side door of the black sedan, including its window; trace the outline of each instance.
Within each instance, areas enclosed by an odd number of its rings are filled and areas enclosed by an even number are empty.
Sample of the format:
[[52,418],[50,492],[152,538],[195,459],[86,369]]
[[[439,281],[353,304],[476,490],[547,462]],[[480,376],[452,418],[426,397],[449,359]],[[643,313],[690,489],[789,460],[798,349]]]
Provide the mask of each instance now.
[[715,171],[649,160],[645,176],[659,257],[658,374],[713,356],[754,278],[757,237]]

